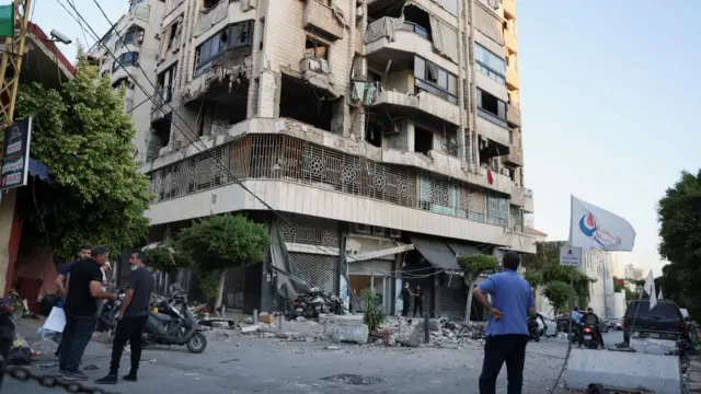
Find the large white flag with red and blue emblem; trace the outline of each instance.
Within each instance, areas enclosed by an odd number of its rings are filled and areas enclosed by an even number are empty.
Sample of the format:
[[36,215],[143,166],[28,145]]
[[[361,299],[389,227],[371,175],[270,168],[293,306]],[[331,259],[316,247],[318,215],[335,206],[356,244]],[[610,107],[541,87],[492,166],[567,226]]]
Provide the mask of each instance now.
[[635,230],[625,219],[572,196],[570,246],[583,252],[598,248],[607,252],[631,252]]

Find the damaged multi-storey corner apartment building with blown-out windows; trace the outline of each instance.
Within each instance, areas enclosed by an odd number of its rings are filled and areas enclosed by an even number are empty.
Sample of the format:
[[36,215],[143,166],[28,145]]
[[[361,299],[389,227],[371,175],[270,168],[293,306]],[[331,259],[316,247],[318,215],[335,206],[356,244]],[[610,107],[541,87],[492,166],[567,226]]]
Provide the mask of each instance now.
[[409,281],[424,311],[462,315],[456,255],[536,251],[515,15],[514,0],[166,0],[137,140],[151,241],[246,213],[273,246],[227,273],[229,306],[283,309],[275,289],[298,276],[354,309],[369,288],[388,313]]

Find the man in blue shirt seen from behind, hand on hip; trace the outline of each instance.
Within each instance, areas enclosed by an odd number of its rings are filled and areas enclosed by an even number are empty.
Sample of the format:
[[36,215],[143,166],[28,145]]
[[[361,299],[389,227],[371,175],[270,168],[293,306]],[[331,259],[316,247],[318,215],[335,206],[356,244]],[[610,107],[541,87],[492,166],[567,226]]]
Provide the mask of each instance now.
[[[474,299],[490,312],[484,343],[484,360],[480,375],[480,394],[495,394],[496,378],[506,362],[507,394],[521,394],[528,335],[528,316],[536,316],[536,300],[530,285],[516,269],[520,256],[506,252],[504,271],[491,275],[476,286]],[[485,294],[492,297],[487,301]]]

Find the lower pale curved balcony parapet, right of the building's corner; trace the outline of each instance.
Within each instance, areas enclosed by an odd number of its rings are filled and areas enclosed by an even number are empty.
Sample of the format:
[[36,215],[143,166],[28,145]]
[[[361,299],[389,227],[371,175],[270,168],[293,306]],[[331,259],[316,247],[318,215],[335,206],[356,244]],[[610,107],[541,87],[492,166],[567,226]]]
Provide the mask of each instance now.
[[[438,121],[460,125],[460,107],[429,92],[409,94],[384,90],[378,94],[371,106],[388,105],[399,107],[399,112],[410,117],[429,115]],[[395,112],[395,111],[392,111]]]

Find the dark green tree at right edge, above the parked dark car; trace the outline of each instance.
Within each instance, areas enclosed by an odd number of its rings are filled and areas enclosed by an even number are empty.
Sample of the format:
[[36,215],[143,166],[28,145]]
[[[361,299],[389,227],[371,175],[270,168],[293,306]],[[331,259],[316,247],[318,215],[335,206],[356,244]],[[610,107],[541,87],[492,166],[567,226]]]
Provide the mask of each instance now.
[[701,318],[701,170],[681,172],[659,200],[657,220],[659,255],[669,264],[656,285],[692,318]]

